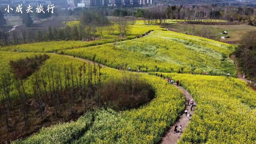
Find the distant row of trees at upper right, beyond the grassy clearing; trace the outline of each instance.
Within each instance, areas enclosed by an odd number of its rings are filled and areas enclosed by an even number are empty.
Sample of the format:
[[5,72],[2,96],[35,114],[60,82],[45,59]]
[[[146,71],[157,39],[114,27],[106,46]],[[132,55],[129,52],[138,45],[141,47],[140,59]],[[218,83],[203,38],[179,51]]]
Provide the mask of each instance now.
[[[148,24],[165,24],[165,19],[172,19],[176,22],[196,23],[196,24],[225,24],[227,22],[247,22],[256,19],[254,9],[250,7],[236,6],[156,6],[147,9],[138,9],[136,17],[148,19]],[[213,20],[226,20],[216,22]],[[159,20],[159,22],[152,22]],[[204,20],[204,21],[202,21]],[[208,20],[208,21],[205,21]],[[230,24],[230,23],[229,23]]]

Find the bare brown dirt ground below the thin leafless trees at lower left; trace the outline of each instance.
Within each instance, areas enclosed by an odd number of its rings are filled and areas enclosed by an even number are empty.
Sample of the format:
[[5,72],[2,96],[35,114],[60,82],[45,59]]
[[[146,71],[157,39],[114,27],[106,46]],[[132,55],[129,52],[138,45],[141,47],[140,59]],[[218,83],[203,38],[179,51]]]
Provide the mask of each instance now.
[[[96,102],[94,100],[86,100],[87,110],[96,108]],[[31,134],[38,132],[42,127],[48,127],[59,122],[68,122],[70,120],[76,120],[84,114],[82,99],[78,99],[73,104],[74,114],[70,115],[70,107],[68,100],[62,100],[60,106],[58,106],[58,116],[55,115],[54,106],[48,106],[44,104],[43,118],[40,118],[39,108],[36,101],[33,98],[26,100],[26,126],[24,124],[23,113],[19,100],[12,101],[12,108],[10,109],[10,115],[8,115],[8,121],[10,125],[10,131],[6,127],[6,119],[4,117],[3,105],[0,106],[0,144],[10,142],[10,140],[16,140],[19,138],[26,138]],[[7,111],[7,110],[6,110]]]

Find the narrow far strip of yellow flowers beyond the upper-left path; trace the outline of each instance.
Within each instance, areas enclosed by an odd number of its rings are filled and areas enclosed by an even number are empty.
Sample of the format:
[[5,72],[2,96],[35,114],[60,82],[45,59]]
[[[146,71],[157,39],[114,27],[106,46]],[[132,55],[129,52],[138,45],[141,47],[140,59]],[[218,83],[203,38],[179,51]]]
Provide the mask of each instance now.
[[[71,23],[71,24],[70,24]],[[73,24],[74,23],[74,24]],[[67,25],[75,26],[77,21],[68,22]],[[117,30],[117,26],[115,25],[114,32],[108,32],[104,29],[103,31],[103,39],[97,39],[96,41],[90,42],[82,42],[82,41],[52,41],[52,42],[37,42],[32,44],[21,44],[15,46],[6,46],[0,48],[0,50],[4,51],[12,51],[12,50],[21,50],[22,52],[55,52],[72,48],[82,48],[88,46],[96,46],[111,42],[116,42],[120,40],[128,40],[132,38],[136,38],[136,36],[140,36],[146,32],[151,30],[161,30],[159,26],[145,26],[143,24],[130,24],[130,30],[128,35],[125,38],[120,38],[119,32]],[[100,34],[97,32],[97,35]]]

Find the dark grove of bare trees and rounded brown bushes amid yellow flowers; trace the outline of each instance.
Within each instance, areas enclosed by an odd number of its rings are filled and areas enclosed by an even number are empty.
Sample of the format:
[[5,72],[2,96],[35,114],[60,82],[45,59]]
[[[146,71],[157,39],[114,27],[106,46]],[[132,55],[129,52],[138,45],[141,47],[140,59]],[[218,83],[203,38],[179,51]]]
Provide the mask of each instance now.
[[[48,56],[38,58],[43,60],[46,57]],[[38,58],[34,61],[38,61]],[[28,62],[23,64],[26,66],[34,63],[31,59],[11,63],[18,66],[22,61]],[[116,110],[134,108],[149,102],[154,97],[152,87],[141,80],[138,74],[126,71],[126,67],[124,65],[120,70],[120,79],[107,79],[103,82],[102,67],[95,63],[48,66],[45,71],[34,72],[29,80],[22,79],[16,73],[13,75],[11,72],[15,70],[12,67],[0,74],[0,117],[4,117],[2,122],[5,121],[8,131],[12,131],[12,126],[15,126],[10,124],[12,116],[22,116],[24,126],[27,126],[29,118],[40,117],[43,120],[50,109],[59,118],[66,112],[69,115],[86,112],[91,108],[87,105],[91,102],[95,102],[98,107],[110,104]],[[78,109],[74,105],[81,106]],[[20,109],[20,113],[15,113],[17,109]],[[31,111],[38,111],[38,115],[28,115]]]

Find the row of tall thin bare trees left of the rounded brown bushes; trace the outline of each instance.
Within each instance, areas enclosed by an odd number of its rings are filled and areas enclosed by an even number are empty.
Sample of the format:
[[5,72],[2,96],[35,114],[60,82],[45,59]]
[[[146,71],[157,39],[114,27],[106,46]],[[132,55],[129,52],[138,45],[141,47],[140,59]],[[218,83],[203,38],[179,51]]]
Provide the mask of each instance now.
[[78,99],[83,100],[83,110],[86,112],[86,98],[96,98],[97,104],[99,104],[100,69],[100,65],[94,64],[87,67],[85,63],[78,67],[72,64],[66,65],[64,68],[52,66],[48,72],[37,72],[38,74],[32,79],[31,88],[25,87],[24,80],[13,77],[10,72],[2,73],[0,77],[0,104],[2,106],[0,108],[3,110],[0,112],[3,112],[7,129],[11,130],[8,118],[14,108],[11,92],[17,94],[24,125],[27,124],[29,111],[27,100],[31,98],[36,102],[41,118],[44,117],[46,106],[54,107],[55,115],[58,116],[62,110],[61,104],[66,102],[69,102],[70,114],[74,114],[73,103]]

